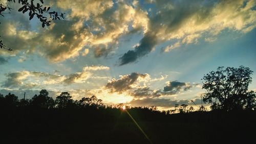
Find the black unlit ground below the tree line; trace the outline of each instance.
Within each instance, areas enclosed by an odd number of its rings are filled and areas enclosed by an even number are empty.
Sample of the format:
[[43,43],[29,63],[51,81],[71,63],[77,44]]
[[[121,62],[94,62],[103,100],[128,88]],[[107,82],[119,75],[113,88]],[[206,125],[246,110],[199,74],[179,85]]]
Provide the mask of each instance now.
[[0,143],[255,143],[256,112],[166,115],[123,110],[13,109],[1,112]]

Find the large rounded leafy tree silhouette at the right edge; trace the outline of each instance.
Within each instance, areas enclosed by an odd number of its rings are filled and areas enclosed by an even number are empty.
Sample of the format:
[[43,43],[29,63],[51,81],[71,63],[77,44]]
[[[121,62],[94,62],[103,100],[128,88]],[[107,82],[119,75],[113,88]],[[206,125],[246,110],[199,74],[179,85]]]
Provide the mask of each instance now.
[[248,67],[218,67],[203,77],[203,101],[211,109],[242,110],[255,108],[255,93],[248,91],[252,70]]

